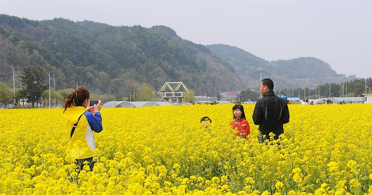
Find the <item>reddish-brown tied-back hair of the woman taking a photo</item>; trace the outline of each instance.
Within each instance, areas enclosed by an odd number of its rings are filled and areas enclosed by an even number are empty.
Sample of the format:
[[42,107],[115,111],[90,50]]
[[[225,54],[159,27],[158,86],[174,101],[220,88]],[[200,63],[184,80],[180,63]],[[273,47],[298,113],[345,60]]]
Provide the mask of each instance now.
[[83,106],[86,99],[89,99],[89,91],[83,86],[77,87],[76,90],[67,95],[65,103],[62,106],[65,108],[63,113],[65,113],[67,108],[72,106]]

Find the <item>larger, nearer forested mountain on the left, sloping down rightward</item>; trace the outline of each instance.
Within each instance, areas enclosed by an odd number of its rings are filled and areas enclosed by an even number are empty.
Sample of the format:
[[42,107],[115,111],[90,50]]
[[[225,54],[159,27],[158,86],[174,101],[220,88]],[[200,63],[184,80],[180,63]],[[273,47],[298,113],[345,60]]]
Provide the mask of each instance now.
[[166,26],[0,14],[0,81],[9,82],[13,66],[19,78],[24,66],[37,65],[55,75],[57,89],[74,88],[77,81],[96,93],[122,92],[129,80],[155,89],[166,81],[182,81],[196,94],[208,95],[227,85],[244,86],[228,62]]

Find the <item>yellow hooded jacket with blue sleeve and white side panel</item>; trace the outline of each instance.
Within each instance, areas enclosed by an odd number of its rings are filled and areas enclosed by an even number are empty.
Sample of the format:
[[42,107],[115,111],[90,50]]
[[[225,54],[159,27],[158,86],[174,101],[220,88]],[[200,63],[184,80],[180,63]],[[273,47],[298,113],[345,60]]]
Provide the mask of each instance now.
[[[73,106],[67,108],[65,117],[66,130],[69,137],[71,136],[74,124],[78,121],[70,143],[68,143],[67,153],[69,153],[73,159],[93,157],[93,150],[95,147],[93,131],[97,133],[102,131],[101,113],[96,112],[92,114],[86,112],[84,107]],[[78,120],[79,117],[80,119]]]

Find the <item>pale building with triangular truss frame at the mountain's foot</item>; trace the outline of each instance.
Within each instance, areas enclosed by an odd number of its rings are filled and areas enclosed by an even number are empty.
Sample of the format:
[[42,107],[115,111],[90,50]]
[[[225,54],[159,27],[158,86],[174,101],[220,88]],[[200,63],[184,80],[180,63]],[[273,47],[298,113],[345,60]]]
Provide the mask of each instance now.
[[165,82],[158,92],[163,101],[170,103],[183,102],[183,97],[189,93],[189,90],[182,82]]

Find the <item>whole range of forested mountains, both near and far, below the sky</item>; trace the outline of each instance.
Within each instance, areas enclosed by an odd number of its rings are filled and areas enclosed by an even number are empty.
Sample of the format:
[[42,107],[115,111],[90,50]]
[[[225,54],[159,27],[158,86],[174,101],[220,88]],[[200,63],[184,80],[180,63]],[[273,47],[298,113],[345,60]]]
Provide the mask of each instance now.
[[166,26],[35,21],[0,14],[0,45],[0,81],[12,82],[12,67],[19,79],[24,66],[40,65],[56,77],[56,89],[74,88],[78,81],[97,93],[122,92],[130,80],[147,82],[155,90],[166,81],[183,81],[197,95],[258,89],[257,68],[262,68],[262,78],[275,80],[276,89],[353,79],[317,58],[269,62],[233,46],[197,45]]

